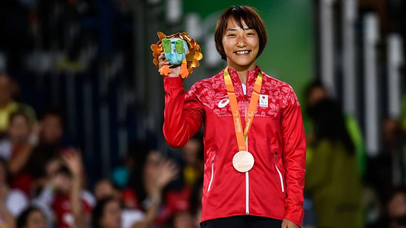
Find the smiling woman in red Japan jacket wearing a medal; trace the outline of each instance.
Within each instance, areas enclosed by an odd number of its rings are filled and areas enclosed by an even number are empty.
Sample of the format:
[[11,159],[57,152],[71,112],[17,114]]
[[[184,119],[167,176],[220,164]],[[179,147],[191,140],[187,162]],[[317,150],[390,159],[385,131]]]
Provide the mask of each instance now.
[[[205,123],[202,227],[301,226],[306,160],[301,111],[293,89],[256,65],[266,38],[255,10],[230,7],[215,32],[227,67],[186,95],[180,66],[164,77],[168,144],[184,146]],[[169,64],[163,53],[159,60],[159,67]]]

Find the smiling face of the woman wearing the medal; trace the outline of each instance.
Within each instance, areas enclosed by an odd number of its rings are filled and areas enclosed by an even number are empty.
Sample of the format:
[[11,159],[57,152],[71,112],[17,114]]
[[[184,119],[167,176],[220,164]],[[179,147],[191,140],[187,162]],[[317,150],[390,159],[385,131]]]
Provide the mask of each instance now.
[[255,58],[259,51],[258,33],[255,29],[248,28],[245,21],[242,21],[242,24],[244,29],[232,18],[228,18],[223,37],[227,65],[233,69],[255,66]]

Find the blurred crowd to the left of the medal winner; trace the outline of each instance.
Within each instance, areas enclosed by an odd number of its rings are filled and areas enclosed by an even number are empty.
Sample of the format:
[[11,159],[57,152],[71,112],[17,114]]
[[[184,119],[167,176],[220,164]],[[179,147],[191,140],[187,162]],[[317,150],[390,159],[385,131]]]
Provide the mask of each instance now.
[[111,175],[88,186],[81,150],[63,140],[56,109],[14,100],[18,85],[0,74],[1,227],[198,227],[202,138],[181,155],[133,142]]

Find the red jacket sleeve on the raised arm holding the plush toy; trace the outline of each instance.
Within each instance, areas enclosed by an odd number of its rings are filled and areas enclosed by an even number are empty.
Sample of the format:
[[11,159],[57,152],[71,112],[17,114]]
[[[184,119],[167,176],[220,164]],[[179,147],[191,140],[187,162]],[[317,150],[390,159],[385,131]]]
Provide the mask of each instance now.
[[165,110],[163,135],[171,147],[186,145],[200,129],[204,108],[194,94],[195,85],[185,96],[182,78],[164,77]]

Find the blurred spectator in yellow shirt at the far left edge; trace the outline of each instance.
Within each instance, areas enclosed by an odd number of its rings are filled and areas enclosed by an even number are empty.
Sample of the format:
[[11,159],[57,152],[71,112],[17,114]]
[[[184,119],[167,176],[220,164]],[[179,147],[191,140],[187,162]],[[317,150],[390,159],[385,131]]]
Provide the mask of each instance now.
[[5,134],[9,127],[10,115],[13,112],[23,112],[30,122],[37,120],[35,111],[27,104],[16,102],[13,91],[16,88],[13,80],[7,74],[0,74],[0,134]]

